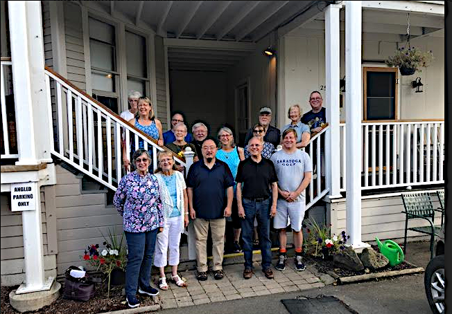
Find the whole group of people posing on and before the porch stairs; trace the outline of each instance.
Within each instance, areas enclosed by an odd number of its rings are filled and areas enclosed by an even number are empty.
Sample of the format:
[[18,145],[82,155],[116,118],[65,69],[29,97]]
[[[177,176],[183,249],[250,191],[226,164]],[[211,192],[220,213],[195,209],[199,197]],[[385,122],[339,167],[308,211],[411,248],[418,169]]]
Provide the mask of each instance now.
[[[243,241],[245,279],[253,275],[252,249],[256,230],[259,230],[262,271],[268,279],[273,278],[270,219],[273,228],[279,230],[279,259],[275,268],[285,269],[286,227],[290,219],[295,267],[305,269],[302,261],[304,190],[311,181],[313,165],[308,154],[300,148],[306,147],[311,132],[320,131],[326,122],[318,91],[311,93],[309,102],[312,110],[303,116],[299,105],[290,107],[288,118],[291,122],[281,130],[282,136],[279,129],[270,125],[271,109],[261,108],[259,122],[247,132],[245,147],[241,148],[235,145],[234,133],[228,127],[222,127],[214,138],[209,136],[207,126],[198,122],[191,129],[193,134],[188,133],[184,115],[180,112],[173,113],[171,129],[162,132],[162,123],[155,118],[150,100],[137,92],[130,93],[130,109],[128,113],[121,113],[121,117],[175,153],[191,147],[195,159],[184,178],[183,167],[176,165],[171,151],[159,151],[154,174],[150,172],[152,156],[144,149],[143,142],[139,142],[139,147],[131,147],[132,156],[123,154],[124,166],[134,171],[121,178],[113,203],[123,216],[128,243],[125,270],[128,306],[139,306],[137,292],[159,293],[150,286],[153,264],[159,268],[160,289],[168,289],[164,273],[166,265],[171,266],[170,281],[177,286],[186,286],[177,274],[177,266],[181,234],[189,224],[189,218],[195,232],[198,280],[208,278],[209,228],[214,279],[224,277],[227,221],[232,223],[236,252],[242,250],[240,238]],[[280,144],[282,149],[276,151],[275,147]],[[259,228],[255,228],[256,225]]]

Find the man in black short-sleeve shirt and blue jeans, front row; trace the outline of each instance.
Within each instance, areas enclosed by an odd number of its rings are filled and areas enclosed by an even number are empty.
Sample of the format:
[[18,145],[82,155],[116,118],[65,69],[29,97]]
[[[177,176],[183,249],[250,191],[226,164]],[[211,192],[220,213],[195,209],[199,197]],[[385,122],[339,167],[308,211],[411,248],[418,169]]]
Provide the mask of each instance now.
[[[254,217],[257,218],[259,223],[262,271],[268,279],[273,278],[273,272],[270,268],[272,265],[270,216],[274,217],[276,214],[278,178],[272,161],[261,156],[262,149],[263,141],[259,138],[251,138],[250,142],[248,142],[248,150],[251,156],[238,164],[236,176],[238,216],[243,219],[242,239],[244,243],[243,255],[245,257],[243,277],[245,279],[250,279],[253,273],[252,234]],[[270,185],[272,187],[271,192]]]

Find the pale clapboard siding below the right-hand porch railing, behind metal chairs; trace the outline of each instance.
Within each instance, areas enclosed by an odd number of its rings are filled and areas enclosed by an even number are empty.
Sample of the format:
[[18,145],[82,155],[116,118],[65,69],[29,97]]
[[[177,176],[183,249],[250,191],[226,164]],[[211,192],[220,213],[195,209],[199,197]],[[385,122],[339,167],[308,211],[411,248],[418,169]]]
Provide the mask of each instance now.
[[[440,202],[434,196],[433,207],[440,207]],[[331,214],[331,234],[340,234],[346,231],[347,209],[345,198],[335,200],[327,205]],[[375,237],[380,240],[392,239],[403,243],[405,232],[405,214],[401,196],[389,196],[381,198],[363,199],[361,201],[361,237],[362,241],[372,242]],[[440,225],[441,214],[435,212],[435,224]],[[429,225],[424,219],[412,219],[408,221],[409,227]],[[408,241],[426,239],[425,234],[408,230]]]

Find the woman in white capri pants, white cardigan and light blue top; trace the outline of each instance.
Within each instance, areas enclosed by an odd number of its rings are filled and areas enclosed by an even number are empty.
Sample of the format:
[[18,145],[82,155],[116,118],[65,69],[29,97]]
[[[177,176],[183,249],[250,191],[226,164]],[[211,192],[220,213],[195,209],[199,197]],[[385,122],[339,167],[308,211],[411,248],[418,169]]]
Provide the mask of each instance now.
[[180,257],[180,236],[189,224],[189,203],[184,175],[177,171],[171,152],[159,151],[157,160],[159,167],[155,170],[155,176],[159,186],[162,187],[160,193],[166,222],[163,231],[157,234],[154,265],[160,270],[159,288],[167,290],[165,275],[167,264],[171,265],[170,281],[180,287],[186,286],[177,274],[177,265]]

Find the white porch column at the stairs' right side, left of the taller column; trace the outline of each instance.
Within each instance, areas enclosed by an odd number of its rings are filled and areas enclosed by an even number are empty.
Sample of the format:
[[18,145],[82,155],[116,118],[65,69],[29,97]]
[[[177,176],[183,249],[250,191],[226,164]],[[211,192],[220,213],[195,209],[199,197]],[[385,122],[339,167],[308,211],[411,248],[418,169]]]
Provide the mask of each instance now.
[[327,121],[329,131],[325,134],[327,151],[325,154],[326,184],[329,187],[329,198],[340,195],[340,159],[332,158],[340,154],[339,131],[339,70],[340,70],[340,4],[331,4],[325,10],[325,77],[327,84]]

